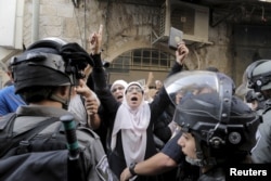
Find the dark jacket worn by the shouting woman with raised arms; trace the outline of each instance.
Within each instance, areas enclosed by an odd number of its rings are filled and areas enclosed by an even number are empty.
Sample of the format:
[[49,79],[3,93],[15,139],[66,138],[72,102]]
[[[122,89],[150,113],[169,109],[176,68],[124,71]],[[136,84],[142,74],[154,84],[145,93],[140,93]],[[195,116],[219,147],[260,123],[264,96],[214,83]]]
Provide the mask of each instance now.
[[[112,95],[106,81],[105,81],[105,73],[102,67],[102,62],[100,55],[92,56],[95,62],[95,67],[93,68],[92,75],[95,82],[95,93],[98,94],[101,104],[104,108],[104,114],[106,114],[107,119],[106,125],[108,127],[108,134],[112,134],[116,113],[120,106],[114,96]],[[179,70],[176,67],[177,72]],[[154,154],[156,154],[155,143],[153,139],[153,127],[156,120],[158,120],[158,116],[162,115],[164,109],[170,104],[170,100],[167,95],[165,88],[159,91],[159,94],[156,99],[150,104],[151,108],[151,120],[147,127],[147,146],[145,152],[145,159],[150,158]],[[108,145],[111,145],[111,137],[107,140]],[[108,147],[108,146],[107,146]],[[112,170],[116,173],[117,177],[120,176],[122,170],[127,167],[122,143],[121,143],[121,133],[117,134],[116,148],[114,151],[107,150],[108,161]],[[144,178],[144,179],[143,179]],[[138,177],[138,180],[146,180],[147,177]],[[150,178],[150,177],[149,177]]]

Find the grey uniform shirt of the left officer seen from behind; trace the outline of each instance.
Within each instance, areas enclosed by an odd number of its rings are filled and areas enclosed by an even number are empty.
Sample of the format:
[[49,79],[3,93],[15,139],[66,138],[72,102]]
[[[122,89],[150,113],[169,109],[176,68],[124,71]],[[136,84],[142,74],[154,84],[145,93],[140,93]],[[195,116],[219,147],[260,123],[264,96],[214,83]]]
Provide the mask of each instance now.
[[[48,119],[48,117],[61,117],[70,113],[55,107],[21,106],[16,114],[17,118],[14,122],[14,134],[20,134],[35,128],[37,124]],[[60,128],[61,124],[61,121],[57,121],[50,125],[41,131],[39,135],[52,134],[55,129]],[[108,163],[100,142],[100,138],[93,131],[91,132],[92,134],[88,134],[83,131],[77,130],[76,134],[80,148],[85,151],[83,154],[87,166],[86,169],[88,170],[88,180],[102,180],[102,176],[103,179],[106,178],[104,176],[111,177],[111,174],[108,174]],[[93,167],[95,167],[95,169]]]

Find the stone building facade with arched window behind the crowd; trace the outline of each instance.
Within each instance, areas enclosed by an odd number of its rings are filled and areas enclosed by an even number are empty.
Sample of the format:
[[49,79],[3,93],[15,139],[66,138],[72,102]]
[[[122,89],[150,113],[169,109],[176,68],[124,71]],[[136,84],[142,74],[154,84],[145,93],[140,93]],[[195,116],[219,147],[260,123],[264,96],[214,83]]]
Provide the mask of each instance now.
[[[44,37],[60,37],[67,41],[75,41],[88,50],[87,40],[91,33],[103,25],[104,61],[114,64],[114,60],[133,52],[133,50],[156,50],[159,54],[173,57],[175,52],[165,43],[153,43],[154,30],[160,26],[160,5],[137,3],[121,3],[107,0],[80,0],[75,8],[70,0],[25,0],[23,15],[23,43],[29,46],[31,41]],[[36,9],[38,8],[38,11]],[[2,8],[0,8],[1,10]],[[36,11],[35,11],[36,10]],[[214,15],[216,18],[216,14]],[[35,18],[34,18],[35,17]],[[221,22],[209,25],[206,43],[190,43],[190,55],[185,62],[188,69],[205,69],[215,66],[220,72],[231,76],[238,86],[242,82],[246,66],[258,57],[268,59],[270,53],[269,39],[264,35],[250,35],[249,26]],[[36,36],[36,37],[35,37]],[[254,37],[250,40],[250,37]],[[262,39],[264,41],[262,42]],[[0,48],[4,50],[4,48]],[[1,61],[7,63],[9,57],[22,50],[15,49]],[[134,56],[134,53],[130,53]],[[173,60],[171,57],[170,65]],[[125,66],[125,65],[124,65]],[[165,79],[169,68],[163,70],[147,68],[122,67],[122,72],[109,72],[109,82],[115,79],[127,81],[146,79],[150,72],[155,79]],[[128,70],[127,70],[128,69]],[[4,67],[0,76],[4,77]],[[3,82],[3,81],[2,81]],[[154,83],[154,82],[153,82]]]

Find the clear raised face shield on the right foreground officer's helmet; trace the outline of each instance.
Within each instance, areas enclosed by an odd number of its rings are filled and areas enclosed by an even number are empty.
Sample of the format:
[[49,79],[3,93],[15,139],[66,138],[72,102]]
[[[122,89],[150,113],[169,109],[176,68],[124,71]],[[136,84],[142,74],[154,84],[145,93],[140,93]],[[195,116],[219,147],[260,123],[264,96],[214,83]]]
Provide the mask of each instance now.
[[[164,85],[171,102],[175,105],[180,105],[177,106],[178,109],[181,108],[182,112],[185,112],[188,104],[182,105],[188,100],[206,95],[209,100],[197,102],[194,106],[190,105],[192,107],[188,108],[194,107],[194,116],[198,114],[211,117],[215,120],[221,120],[221,122],[228,121],[233,88],[232,80],[223,74],[207,70],[181,72],[169,77]],[[199,106],[197,109],[196,105]]]

